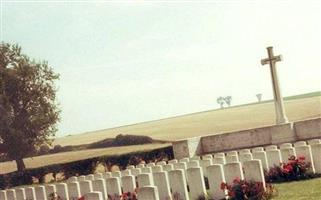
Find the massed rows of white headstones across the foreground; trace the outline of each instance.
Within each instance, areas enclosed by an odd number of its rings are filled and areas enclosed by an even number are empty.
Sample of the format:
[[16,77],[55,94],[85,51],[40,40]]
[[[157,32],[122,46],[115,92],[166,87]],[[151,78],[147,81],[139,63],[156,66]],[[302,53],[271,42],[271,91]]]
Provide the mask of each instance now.
[[[213,199],[224,198],[222,182],[231,183],[239,177],[265,184],[263,169],[269,169],[286,161],[289,156],[304,156],[311,167],[321,173],[321,141],[313,140],[281,144],[277,146],[242,149],[202,157],[127,166],[126,170],[74,176],[66,183],[49,184],[0,191],[0,200],[48,200],[56,193],[63,199],[103,200],[118,197],[122,192],[134,192],[138,188],[139,200],[197,199],[206,194]],[[205,188],[204,176],[209,188]],[[188,192],[189,188],[189,192]]]

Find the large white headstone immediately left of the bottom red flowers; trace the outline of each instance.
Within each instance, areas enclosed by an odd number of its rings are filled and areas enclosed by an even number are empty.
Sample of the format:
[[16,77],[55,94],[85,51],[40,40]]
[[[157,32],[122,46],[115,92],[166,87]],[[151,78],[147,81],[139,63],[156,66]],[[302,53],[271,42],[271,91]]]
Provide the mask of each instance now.
[[209,181],[209,196],[211,199],[224,199],[226,195],[225,190],[221,190],[221,183],[226,182],[223,172],[223,166],[214,164],[207,167],[207,174]]

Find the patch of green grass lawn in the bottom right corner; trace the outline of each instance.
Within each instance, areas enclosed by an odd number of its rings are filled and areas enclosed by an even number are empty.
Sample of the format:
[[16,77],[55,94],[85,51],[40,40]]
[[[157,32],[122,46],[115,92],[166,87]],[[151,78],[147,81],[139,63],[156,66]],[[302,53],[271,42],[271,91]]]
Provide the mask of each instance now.
[[273,200],[321,200],[321,178],[274,185],[278,196]]

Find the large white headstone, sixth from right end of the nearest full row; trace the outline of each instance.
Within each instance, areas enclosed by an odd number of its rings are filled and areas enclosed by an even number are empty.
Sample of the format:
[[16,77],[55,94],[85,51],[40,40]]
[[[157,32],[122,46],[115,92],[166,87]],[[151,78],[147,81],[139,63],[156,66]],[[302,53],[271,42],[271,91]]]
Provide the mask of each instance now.
[[153,173],[154,184],[158,188],[159,199],[171,200],[171,191],[166,172]]

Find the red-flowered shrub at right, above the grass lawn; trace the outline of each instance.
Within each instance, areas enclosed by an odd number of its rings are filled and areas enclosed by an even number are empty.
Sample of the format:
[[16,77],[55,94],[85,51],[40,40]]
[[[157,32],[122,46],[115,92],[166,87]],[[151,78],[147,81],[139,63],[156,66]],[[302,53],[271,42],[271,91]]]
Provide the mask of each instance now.
[[265,175],[267,182],[285,182],[313,178],[316,175],[311,170],[311,164],[305,162],[305,157],[291,156],[288,162],[271,168]]

